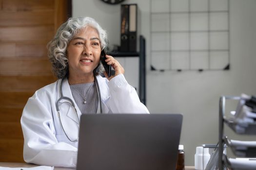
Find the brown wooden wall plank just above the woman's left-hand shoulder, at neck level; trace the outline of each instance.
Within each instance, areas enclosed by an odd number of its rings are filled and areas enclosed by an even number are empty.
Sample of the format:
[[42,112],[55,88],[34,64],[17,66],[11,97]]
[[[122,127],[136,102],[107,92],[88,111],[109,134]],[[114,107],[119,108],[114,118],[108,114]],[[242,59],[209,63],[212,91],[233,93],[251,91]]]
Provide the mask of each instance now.
[[[51,75],[22,75],[22,76],[4,76],[0,75],[0,89],[1,90],[31,90],[37,89],[49,85],[55,82],[57,79]],[[4,83],[2,83],[4,82]]]

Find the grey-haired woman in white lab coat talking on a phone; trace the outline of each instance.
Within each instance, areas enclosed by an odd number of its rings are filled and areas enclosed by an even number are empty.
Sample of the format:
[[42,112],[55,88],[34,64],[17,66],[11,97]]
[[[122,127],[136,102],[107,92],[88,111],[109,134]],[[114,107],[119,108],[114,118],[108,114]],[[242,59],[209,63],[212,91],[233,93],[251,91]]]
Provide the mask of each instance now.
[[76,167],[81,114],[149,113],[112,56],[106,55],[105,61],[115,75],[100,76],[106,43],[106,32],[90,17],[69,18],[48,43],[58,80],[37,90],[24,107],[25,162]]

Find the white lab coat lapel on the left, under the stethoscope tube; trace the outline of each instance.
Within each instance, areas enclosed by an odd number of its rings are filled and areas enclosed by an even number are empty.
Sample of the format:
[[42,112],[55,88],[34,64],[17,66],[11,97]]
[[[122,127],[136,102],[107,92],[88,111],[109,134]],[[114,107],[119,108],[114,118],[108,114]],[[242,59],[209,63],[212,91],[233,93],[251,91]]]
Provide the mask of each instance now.
[[74,120],[75,122],[77,122],[79,124],[81,111],[79,110],[78,105],[77,105],[77,103],[75,102],[75,100],[72,96],[72,92],[71,92],[70,86],[68,84],[67,78],[64,79],[62,86],[63,86],[62,87],[63,96],[70,98],[74,102],[76,110],[78,112],[79,120],[77,118],[75,109],[69,109],[68,113],[67,113],[67,117],[69,117],[70,119]]

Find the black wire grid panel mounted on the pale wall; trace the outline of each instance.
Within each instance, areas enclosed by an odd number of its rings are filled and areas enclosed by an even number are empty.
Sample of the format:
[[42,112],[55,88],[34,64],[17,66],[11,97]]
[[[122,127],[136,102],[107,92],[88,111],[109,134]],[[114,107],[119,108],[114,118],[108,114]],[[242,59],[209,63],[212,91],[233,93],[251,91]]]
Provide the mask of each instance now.
[[[228,3],[228,9],[227,10],[219,10],[219,11],[213,11],[213,10],[210,10],[211,9],[211,6],[210,6],[210,0],[208,0],[208,10],[207,11],[191,11],[191,0],[188,0],[188,8],[189,10],[188,11],[184,11],[184,12],[171,12],[171,1],[172,0],[169,0],[169,12],[152,12],[152,0],[150,0],[150,42],[151,42],[151,45],[150,45],[150,66],[151,66],[151,70],[158,70],[158,71],[167,71],[167,70],[170,70],[170,71],[203,71],[203,70],[229,70],[230,69],[230,2],[229,0],[227,0],[227,3]],[[191,30],[191,14],[199,14],[199,13],[206,13],[208,15],[208,30],[198,30],[198,31],[192,31]],[[227,13],[227,16],[228,16],[228,29],[227,30],[210,30],[210,15],[212,13]],[[173,14],[188,14],[188,28],[189,30],[188,31],[171,31],[171,19],[169,19],[169,31],[152,31],[152,15],[154,14],[169,14],[169,18],[171,18],[171,15]],[[225,32],[228,34],[228,49],[210,49],[210,40],[211,40],[211,33],[217,33],[217,32]],[[153,33],[168,33],[170,34],[169,36],[169,50],[157,50],[157,51],[154,51],[152,50],[153,49],[153,44],[152,44],[152,36],[153,36]],[[188,50],[172,50],[171,49],[171,41],[172,41],[172,37],[171,37],[171,33],[188,33],[188,44],[189,44],[189,49]],[[191,33],[207,33],[208,34],[208,50],[192,50],[191,49]],[[205,69],[205,68],[198,68],[198,69],[195,69],[195,68],[191,68],[191,53],[192,52],[207,52],[208,53],[208,68]],[[228,52],[228,63],[227,65],[224,67],[224,68],[211,68],[211,52],[213,51],[226,51]],[[154,63],[152,61],[152,52],[169,52],[169,60],[170,60],[170,63],[169,63],[169,69],[158,69],[154,66]],[[189,63],[189,68],[187,69],[174,69],[172,68],[172,55],[171,53],[172,52],[188,52],[188,63]]]

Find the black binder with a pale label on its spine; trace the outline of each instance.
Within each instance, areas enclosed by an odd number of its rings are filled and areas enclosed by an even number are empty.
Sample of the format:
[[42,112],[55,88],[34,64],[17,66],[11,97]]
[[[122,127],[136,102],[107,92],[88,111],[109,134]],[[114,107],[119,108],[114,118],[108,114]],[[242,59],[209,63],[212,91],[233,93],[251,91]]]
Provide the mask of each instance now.
[[137,51],[137,4],[129,5],[129,51]]

